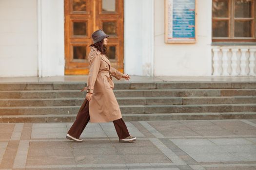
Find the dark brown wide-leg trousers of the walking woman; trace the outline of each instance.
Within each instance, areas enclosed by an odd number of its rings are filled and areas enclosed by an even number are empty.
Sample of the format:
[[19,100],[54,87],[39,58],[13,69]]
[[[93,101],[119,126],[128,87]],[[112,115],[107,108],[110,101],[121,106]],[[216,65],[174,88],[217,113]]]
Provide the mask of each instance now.
[[[85,126],[90,120],[89,115],[89,101],[87,99],[84,100],[83,104],[81,105],[78,115],[76,117],[75,122],[71,126],[68,131],[68,134],[72,137],[79,138],[82,134]],[[123,121],[123,119],[117,119],[113,121],[115,129],[117,131],[119,139],[123,139],[125,137],[130,136],[128,129]]]

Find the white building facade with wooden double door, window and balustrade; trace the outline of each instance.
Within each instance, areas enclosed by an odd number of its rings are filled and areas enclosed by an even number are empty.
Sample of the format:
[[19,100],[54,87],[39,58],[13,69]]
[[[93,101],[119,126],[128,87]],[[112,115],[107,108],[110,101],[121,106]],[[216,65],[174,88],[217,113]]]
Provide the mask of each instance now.
[[196,42],[166,43],[175,0],[0,0],[0,77],[86,75],[97,29],[130,75],[256,76],[256,0],[194,1]]

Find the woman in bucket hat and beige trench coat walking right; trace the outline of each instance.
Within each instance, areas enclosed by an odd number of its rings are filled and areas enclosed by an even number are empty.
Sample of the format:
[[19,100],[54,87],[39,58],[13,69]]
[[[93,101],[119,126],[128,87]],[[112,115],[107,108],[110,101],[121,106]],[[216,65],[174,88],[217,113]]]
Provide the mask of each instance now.
[[87,94],[79,109],[77,118],[66,136],[66,138],[75,142],[83,141],[79,139],[79,136],[89,120],[92,123],[113,121],[119,142],[133,142],[136,140],[136,137],[130,136],[128,132],[113,92],[112,76],[118,80],[121,78],[129,80],[130,76],[110,66],[110,61],[105,55],[107,37],[109,35],[102,30],[97,30],[92,34],[94,44],[90,46],[91,51],[88,57],[89,75],[87,87],[81,90],[86,90]]

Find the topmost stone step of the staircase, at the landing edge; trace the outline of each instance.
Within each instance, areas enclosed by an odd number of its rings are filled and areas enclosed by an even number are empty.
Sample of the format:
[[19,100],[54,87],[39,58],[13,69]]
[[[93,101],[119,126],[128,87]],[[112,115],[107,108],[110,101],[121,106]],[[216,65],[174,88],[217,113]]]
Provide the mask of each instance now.
[[[1,83],[0,90],[72,90],[86,82]],[[256,82],[115,82],[115,89],[256,88]]]

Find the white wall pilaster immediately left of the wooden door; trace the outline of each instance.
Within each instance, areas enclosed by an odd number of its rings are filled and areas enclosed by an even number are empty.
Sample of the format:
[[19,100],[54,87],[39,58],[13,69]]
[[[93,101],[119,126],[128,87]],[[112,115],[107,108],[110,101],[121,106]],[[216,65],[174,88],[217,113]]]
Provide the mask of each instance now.
[[64,0],[38,0],[39,77],[62,76],[64,54]]

